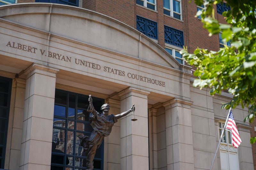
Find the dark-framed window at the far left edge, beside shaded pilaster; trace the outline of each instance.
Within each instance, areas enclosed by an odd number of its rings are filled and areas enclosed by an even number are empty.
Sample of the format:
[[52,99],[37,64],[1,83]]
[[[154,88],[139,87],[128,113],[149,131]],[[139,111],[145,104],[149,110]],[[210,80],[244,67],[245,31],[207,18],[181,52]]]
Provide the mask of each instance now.
[[0,77],[0,168],[4,169],[12,79]]

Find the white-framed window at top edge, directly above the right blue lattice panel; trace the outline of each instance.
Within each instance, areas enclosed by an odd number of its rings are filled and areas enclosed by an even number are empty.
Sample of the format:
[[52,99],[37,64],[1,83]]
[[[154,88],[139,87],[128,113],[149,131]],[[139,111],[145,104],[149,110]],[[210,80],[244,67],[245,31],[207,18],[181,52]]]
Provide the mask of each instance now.
[[164,14],[182,19],[181,0],[164,0]]

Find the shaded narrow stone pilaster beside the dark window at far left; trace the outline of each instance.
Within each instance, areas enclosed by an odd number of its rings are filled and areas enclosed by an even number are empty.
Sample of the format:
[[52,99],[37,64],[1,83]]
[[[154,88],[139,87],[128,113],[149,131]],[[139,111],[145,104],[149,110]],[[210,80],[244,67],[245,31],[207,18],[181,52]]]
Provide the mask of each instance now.
[[[10,108],[10,152],[7,169],[19,169],[20,165],[20,144],[22,134],[22,123],[24,113],[24,96],[26,81],[21,78],[14,78],[12,85],[13,108]],[[11,113],[12,110],[12,113]]]

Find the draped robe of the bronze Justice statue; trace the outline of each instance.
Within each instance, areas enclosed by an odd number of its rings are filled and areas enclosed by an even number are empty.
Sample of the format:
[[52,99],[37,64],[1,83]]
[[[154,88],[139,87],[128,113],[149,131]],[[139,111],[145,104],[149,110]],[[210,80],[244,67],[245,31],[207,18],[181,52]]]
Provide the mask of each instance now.
[[[107,137],[114,125],[117,122],[117,119],[114,115],[104,116],[96,112],[95,115],[90,113],[90,124],[92,125],[93,131],[90,137],[84,136],[81,141],[81,146],[84,147],[83,155],[87,156],[86,158],[86,167],[87,169],[93,169],[93,159],[96,153],[96,149],[100,147],[104,137]],[[85,162],[83,161],[83,166]]]

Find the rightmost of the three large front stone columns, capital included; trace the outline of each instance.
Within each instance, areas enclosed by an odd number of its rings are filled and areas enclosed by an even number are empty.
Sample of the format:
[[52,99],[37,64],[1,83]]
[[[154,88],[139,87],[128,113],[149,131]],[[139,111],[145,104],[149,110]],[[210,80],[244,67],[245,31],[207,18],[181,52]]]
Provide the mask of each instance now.
[[167,170],[194,169],[191,101],[165,102]]

